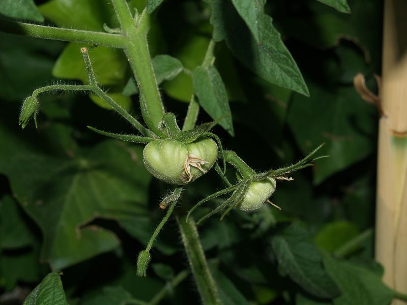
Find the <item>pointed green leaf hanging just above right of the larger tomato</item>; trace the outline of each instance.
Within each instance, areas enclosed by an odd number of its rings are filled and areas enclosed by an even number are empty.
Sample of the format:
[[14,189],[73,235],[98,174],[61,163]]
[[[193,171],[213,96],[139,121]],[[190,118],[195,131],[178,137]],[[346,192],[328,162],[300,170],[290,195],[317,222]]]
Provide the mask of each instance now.
[[214,66],[198,67],[193,76],[194,92],[199,105],[215,120],[225,116],[219,122],[231,136],[234,135],[233,123],[227,100],[226,89],[218,70]]

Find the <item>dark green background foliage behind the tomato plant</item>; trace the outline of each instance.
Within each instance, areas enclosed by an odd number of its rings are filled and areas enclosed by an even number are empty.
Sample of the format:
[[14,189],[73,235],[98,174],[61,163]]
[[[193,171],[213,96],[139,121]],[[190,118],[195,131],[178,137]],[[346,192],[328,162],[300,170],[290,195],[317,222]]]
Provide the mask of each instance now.
[[[133,2],[143,7],[143,1]],[[71,0],[69,9],[63,3],[36,1],[45,23],[90,30],[117,25],[107,2]],[[323,154],[331,155],[293,174],[294,181],[278,182],[272,201],[282,212],[271,206],[252,214],[234,210],[221,222],[214,217],[199,227],[225,304],[389,301],[380,283],[383,270],[373,261],[377,112],[352,82],[361,72],[375,88],[382,1],[348,4],[352,14],[314,0],[266,4],[309,98],[259,78],[225,42],[216,46],[215,66],[235,131],[231,137],[215,128],[224,146],[256,170],[292,163],[321,142]],[[151,53],[170,54],[193,70],[212,35],[209,18],[205,2],[165,1],[149,35]],[[37,130],[33,124],[18,126],[21,101],[33,89],[86,79],[80,44],[7,34],[0,41],[0,299],[12,292],[23,296],[48,272],[62,270],[70,304],[147,301],[163,287],[168,290],[163,304],[198,302],[191,277],[177,287],[168,284],[188,268],[173,220],[155,243],[148,277],[135,274],[136,256],[162,217],[157,204],[167,186],[144,169],[140,146],[86,129],[130,131],[123,120],[94,96],[56,94],[41,97]],[[132,82],[122,51],[96,47],[91,57],[99,82],[137,115],[137,95],[122,94]],[[182,121],[192,80],[181,73],[160,88],[166,108]],[[201,111],[198,121],[208,120]],[[188,200],[220,187],[211,172],[188,187]]]

